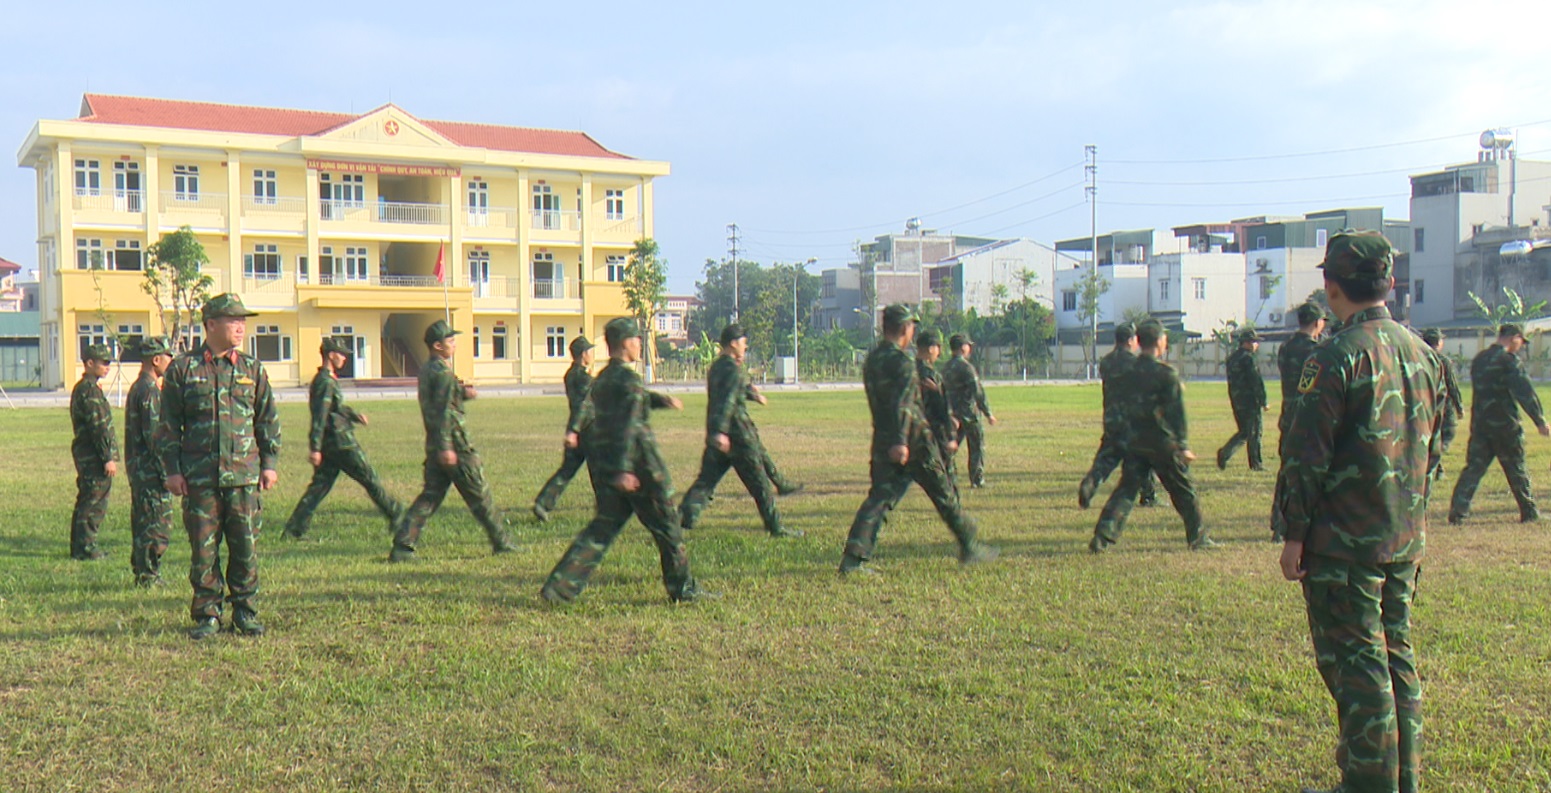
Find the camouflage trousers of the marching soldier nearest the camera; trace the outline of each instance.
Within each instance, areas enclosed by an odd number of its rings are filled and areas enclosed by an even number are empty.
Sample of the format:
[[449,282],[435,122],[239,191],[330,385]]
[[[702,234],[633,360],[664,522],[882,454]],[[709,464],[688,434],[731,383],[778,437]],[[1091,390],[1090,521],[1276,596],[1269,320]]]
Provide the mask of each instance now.
[[639,517],[641,525],[651,532],[651,542],[656,543],[662,560],[662,587],[668,599],[679,601],[695,593],[695,577],[689,571],[689,551],[684,548],[684,532],[675,520],[678,514],[673,509],[673,498],[647,476],[641,478],[636,492],[627,493],[614,487],[614,483],[599,481],[597,472],[591,467],[588,473],[592,478],[597,512],[555,563],[540,594],[549,601],[565,602],[582,594],[592,571],[603,562],[608,546],[630,521],[630,515]]

